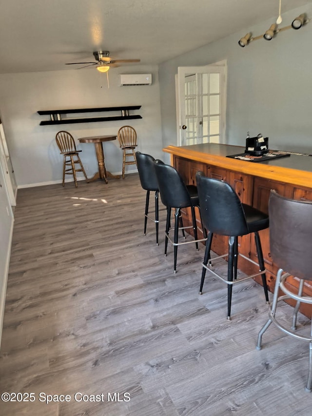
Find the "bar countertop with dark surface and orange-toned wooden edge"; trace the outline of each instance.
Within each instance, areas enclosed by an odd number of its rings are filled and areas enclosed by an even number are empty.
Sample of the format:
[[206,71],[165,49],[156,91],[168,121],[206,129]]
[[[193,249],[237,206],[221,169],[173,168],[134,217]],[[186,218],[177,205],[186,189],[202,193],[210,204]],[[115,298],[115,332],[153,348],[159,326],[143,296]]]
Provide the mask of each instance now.
[[[219,166],[243,174],[273,179],[297,186],[312,187],[312,157],[291,155],[262,162],[249,162],[227,158],[227,156],[243,153],[241,146],[229,144],[194,144],[191,146],[167,146],[164,152],[180,158],[195,160],[208,165]],[[272,150],[273,151],[273,150]]]

